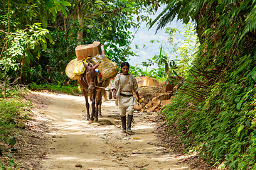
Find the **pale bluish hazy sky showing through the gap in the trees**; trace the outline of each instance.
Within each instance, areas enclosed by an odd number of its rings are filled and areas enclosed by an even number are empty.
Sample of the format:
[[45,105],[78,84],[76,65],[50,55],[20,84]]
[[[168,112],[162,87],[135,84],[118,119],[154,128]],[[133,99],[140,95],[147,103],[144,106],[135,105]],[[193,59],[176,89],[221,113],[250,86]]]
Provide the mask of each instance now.
[[[154,16],[149,16],[150,18],[154,19],[156,16],[161,13],[161,10],[159,10]],[[167,34],[165,33],[167,27],[171,28],[177,28],[181,32],[183,32],[183,24],[180,21],[177,21],[174,19],[171,23],[169,23],[165,28],[158,30],[156,33],[156,27],[157,25],[155,24],[152,28],[146,28],[146,23],[142,23],[141,27],[139,30],[137,29],[131,29],[130,31],[135,34],[134,40],[132,41],[130,47],[132,47],[132,51],[134,51],[139,57],[129,57],[129,64],[132,66],[135,66],[136,64],[142,64],[142,62],[146,62],[146,59],[151,59],[154,57],[154,55],[159,55],[160,53],[160,47],[162,42],[166,42],[167,44]],[[150,40],[159,40],[159,42],[151,43]],[[184,40],[183,35],[180,33],[176,33],[175,39],[174,39],[174,44],[178,41]],[[135,45],[139,45],[139,50],[135,48]],[[143,46],[146,45],[146,47],[143,49]],[[163,43],[164,45],[164,43]],[[165,46],[165,52],[168,52],[167,46]],[[171,58],[171,60],[173,60]],[[144,69],[145,68],[142,66],[139,66]],[[149,71],[151,68],[156,67],[156,64],[152,67],[149,67],[147,71]]]

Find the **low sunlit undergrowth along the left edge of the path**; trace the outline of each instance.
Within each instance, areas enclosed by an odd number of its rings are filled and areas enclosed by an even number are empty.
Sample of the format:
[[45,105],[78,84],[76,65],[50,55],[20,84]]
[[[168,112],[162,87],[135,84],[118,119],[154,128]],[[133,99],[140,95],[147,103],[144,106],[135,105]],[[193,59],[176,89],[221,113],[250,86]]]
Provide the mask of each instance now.
[[18,169],[20,165],[14,156],[18,150],[14,145],[18,137],[22,137],[32,108],[31,102],[23,98],[23,93],[26,90],[16,86],[7,89],[6,99],[0,98],[0,169]]

